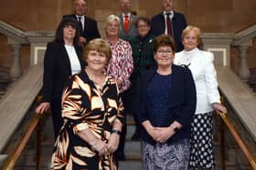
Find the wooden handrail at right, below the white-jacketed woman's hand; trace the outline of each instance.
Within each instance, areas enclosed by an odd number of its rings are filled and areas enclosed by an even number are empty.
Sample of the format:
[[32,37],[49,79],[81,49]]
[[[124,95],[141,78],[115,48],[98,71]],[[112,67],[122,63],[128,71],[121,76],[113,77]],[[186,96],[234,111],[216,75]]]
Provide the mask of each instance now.
[[229,128],[229,131],[231,133],[231,135],[233,135],[233,137],[235,138],[236,142],[238,143],[238,145],[240,146],[241,151],[243,152],[243,154],[247,157],[248,161],[251,164],[251,167],[256,170],[256,162],[253,158],[253,156],[251,155],[250,151],[248,150],[248,148],[246,147],[246,145],[244,144],[243,140],[241,139],[240,135],[237,133],[237,131],[235,130],[234,126],[231,124],[229,117],[227,114],[225,113],[221,113],[219,114],[220,117],[222,118],[223,122],[225,123],[225,125],[227,125],[227,127]]

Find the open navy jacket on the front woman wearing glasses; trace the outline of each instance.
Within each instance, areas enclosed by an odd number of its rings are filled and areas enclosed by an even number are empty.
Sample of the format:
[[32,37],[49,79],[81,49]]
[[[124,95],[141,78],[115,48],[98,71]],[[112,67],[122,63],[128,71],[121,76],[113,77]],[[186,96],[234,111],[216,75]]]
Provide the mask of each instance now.
[[[146,108],[146,89],[155,73],[156,69],[145,72],[138,83],[135,114],[140,124],[149,120],[147,110],[150,108]],[[173,140],[190,137],[190,123],[196,110],[197,95],[193,77],[187,67],[172,65],[172,87],[169,93],[170,105],[166,105],[169,107],[169,118],[165,120],[165,124],[171,125],[177,121],[183,127],[167,141],[168,144]],[[141,137],[145,142],[155,145],[155,140],[144,128]]]

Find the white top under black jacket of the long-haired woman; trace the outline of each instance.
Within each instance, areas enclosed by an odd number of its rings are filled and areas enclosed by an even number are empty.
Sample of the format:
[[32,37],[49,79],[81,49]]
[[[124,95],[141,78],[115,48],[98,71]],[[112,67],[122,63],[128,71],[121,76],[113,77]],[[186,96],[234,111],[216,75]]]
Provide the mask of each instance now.
[[65,48],[69,55],[69,62],[70,62],[70,66],[71,66],[72,75],[80,73],[80,70],[81,70],[80,60],[76,53],[74,45],[65,45]]

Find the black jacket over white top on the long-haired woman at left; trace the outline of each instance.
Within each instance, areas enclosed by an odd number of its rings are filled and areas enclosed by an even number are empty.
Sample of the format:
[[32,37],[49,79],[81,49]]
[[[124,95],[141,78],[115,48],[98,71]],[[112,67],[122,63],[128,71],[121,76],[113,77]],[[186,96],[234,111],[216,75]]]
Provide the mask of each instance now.
[[[75,50],[83,69],[82,50],[77,45],[75,45]],[[57,42],[48,43],[44,58],[43,102],[60,100],[62,90],[70,75],[71,66],[65,45]]]

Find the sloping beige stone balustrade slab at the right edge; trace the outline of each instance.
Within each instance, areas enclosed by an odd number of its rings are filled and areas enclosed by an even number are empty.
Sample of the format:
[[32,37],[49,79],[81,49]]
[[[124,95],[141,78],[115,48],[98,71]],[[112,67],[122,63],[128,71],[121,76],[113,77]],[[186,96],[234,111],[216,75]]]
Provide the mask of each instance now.
[[219,88],[240,117],[241,122],[256,140],[256,95],[249,86],[240,81],[228,67],[217,66]]

